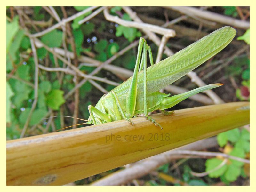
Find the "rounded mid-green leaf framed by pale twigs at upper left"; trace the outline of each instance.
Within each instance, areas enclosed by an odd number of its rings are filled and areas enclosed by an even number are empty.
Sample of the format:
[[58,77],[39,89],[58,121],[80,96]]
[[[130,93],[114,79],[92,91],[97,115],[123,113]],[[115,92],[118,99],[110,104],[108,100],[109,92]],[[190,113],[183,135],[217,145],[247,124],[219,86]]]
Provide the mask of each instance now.
[[54,29],[42,36],[41,40],[49,47],[60,47],[62,43],[62,31]]

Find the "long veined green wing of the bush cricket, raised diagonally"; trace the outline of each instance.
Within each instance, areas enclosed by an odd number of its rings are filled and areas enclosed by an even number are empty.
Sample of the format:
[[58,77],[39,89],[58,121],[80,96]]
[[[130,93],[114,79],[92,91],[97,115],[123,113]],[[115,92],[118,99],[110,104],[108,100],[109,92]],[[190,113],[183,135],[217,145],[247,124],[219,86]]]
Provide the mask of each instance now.
[[[147,94],[156,92],[192,71],[226,47],[236,35],[232,27],[222,27],[174,55],[147,68]],[[126,97],[131,78],[113,91]],[[138,74],[138,96],[143,95],[143,71]]]

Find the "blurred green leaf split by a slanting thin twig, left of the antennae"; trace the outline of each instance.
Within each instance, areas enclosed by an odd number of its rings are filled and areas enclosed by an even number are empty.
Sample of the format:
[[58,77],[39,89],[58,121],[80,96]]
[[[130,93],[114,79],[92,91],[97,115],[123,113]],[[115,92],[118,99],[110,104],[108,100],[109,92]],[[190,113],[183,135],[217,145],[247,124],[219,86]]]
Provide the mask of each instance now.
[[[21,124],[25,124],[28,115],[30,113],[31,108],[26,108],[25,111],[23,111],[21,113],[21,115],[19,116],[19,120]],[[44,116],[47,114],[47,110],[44,109],[36,109],[33,111],[33,114],[31,116],[30,122],[29,122],[29,126],[33,126],[35,124],[38,124],[42,118],[44,118]]]

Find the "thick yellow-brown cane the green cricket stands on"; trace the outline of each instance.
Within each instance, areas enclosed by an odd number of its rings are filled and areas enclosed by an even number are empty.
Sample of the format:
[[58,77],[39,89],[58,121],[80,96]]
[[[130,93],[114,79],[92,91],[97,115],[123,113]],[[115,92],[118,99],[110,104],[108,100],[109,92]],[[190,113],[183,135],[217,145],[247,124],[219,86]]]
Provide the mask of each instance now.
[[249,124],[249,102],[152,115],[7,141],[7,185],[63,185]]

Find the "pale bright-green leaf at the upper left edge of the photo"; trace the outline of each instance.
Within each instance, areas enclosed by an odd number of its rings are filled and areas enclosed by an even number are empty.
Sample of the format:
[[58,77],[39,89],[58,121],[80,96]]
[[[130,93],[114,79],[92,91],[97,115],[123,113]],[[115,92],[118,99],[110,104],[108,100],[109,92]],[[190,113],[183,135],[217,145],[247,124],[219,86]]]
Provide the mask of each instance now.
[[6,22],[6,52],[9,51],[12,39],[19,30],[19,17],[15,16],[12,22]]

